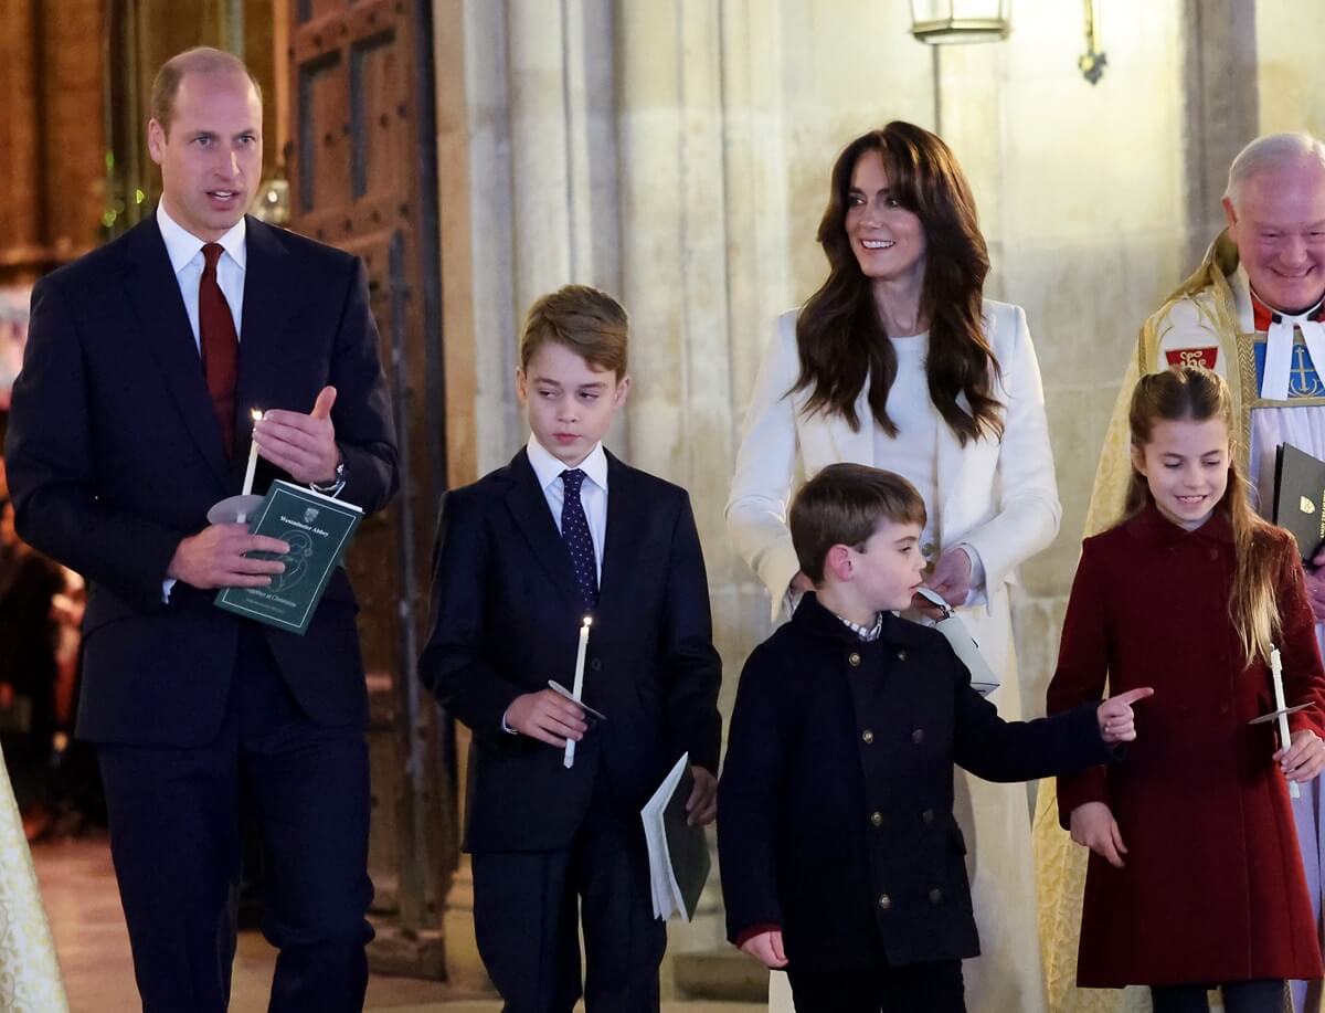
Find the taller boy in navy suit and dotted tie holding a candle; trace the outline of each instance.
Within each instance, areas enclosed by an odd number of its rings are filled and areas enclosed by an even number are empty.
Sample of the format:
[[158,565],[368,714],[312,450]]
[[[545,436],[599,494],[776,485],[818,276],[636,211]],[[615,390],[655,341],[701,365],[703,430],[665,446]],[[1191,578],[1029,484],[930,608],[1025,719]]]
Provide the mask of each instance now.
[[[714,815],[721,663],[684,489],[603,449],[631,388],[625,312],[580,285],[529,312],[515,374],[533,431],[441,505],[423,682],[473,729],[465,849],[478,949],[507,1013],[659,1009],[640,806],[682,752],[690,822]],[[594,623],[586,704],[574,680]],[[567,740],[574,764],[563,762]]]

